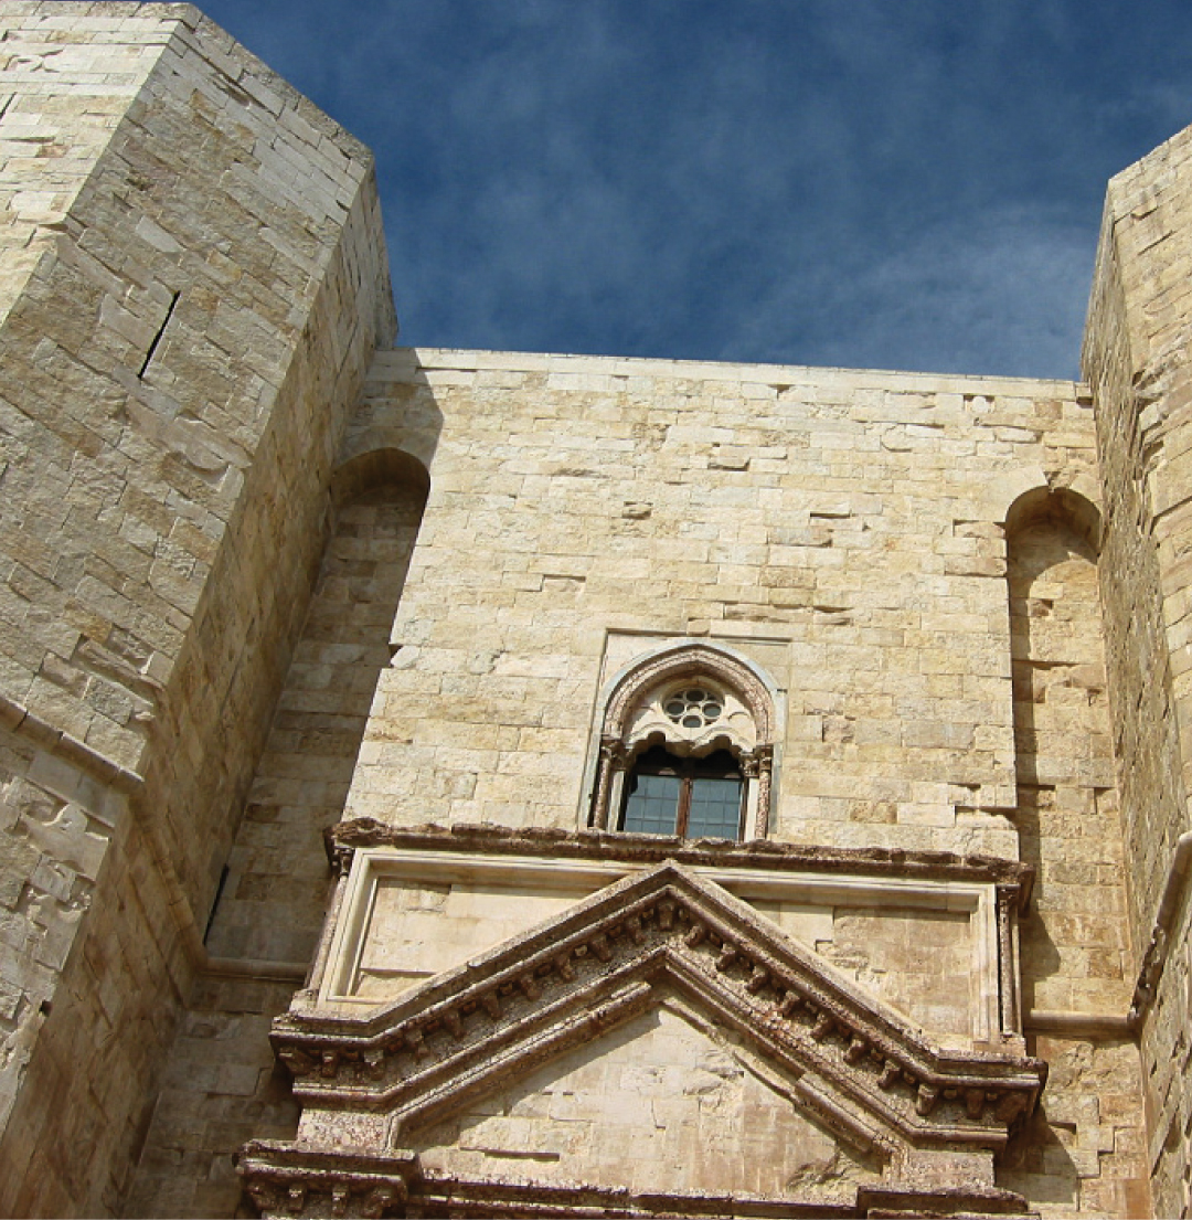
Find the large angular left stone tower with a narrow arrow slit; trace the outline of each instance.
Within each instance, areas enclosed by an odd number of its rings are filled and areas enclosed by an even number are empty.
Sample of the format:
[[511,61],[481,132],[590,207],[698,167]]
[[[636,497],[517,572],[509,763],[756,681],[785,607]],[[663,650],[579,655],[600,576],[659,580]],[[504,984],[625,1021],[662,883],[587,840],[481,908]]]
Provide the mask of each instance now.
[[0,22],[0,1210],[102,1214],[394,323],[370,155],[194,9]]

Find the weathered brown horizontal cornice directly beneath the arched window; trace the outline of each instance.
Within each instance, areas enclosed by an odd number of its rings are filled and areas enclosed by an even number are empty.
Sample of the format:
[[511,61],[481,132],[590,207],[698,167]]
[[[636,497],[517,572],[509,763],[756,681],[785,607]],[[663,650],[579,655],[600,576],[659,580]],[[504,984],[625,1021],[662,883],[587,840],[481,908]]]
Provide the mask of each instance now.
[[[665,834],[627,834],[619,831],[565,831],[510,828],[488,824],[450,827],[386,826],[357,817],[325,831],[328,859],[337,869],[357,848],[394,848],[410,852],[460,852],[486,855],[528,855],[551,860],[608,860],[656,865],[675,860],[682,865],[716,869],[766,869],[850,877],[892,877],[904,881],[985,882],[1016,888],[1016,905],[1025,911],[1035,870],[1018,860],[952,852],[909,852],[902,848],[815,847],[750,839],[745,843],[706,843]],[[338,853],[338,859],[337,859]]]

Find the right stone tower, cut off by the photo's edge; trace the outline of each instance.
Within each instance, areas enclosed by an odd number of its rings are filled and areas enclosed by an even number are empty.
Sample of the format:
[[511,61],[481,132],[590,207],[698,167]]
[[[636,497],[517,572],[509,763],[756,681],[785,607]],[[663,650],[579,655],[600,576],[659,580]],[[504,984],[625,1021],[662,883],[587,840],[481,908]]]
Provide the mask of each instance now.
[[[1085,339],[1105,487],[1102,592],[1131,882],[1135,966],[1161,969],[1140,994],[1148,1169],[1159,1215],[1190,1200],[1187,887],[1192,767],[1192,132],[1110,184]],[[1164,895],[1175,905],[1152,937]]]

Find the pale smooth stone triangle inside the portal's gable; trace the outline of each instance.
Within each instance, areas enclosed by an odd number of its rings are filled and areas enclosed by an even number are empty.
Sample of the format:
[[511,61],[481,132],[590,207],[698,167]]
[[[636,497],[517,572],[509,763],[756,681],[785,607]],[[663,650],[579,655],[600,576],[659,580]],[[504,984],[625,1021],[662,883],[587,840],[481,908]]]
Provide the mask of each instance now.
[[423,1181],[530,1175],[643,1194],[850,1204],[881,1149],[808,1114],[799,1081],[678,994],[411,1135]]

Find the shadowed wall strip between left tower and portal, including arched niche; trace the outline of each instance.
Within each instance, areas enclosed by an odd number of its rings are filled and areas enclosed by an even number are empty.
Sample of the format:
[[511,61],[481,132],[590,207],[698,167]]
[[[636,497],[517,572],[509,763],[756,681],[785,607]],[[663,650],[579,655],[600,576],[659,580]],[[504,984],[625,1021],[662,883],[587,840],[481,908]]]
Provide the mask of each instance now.
[[412,399],[412,448],[426,459],[442,425],[416,367],[401,384],[388,403],[368,401],[366,389],[356,423],[365,420],[371,436],[349,429],[349,458],[327,489],[322,561],[207,928],[212,970],[199,977],[174,1038],[129,1216],[255,1215],[237,1149],[296,1128],[289,1074],[268,1032],[322,930],[332,884],[323,830],[343,814],[429,490],[423,461],[398,448],[401,416]]

